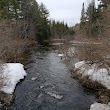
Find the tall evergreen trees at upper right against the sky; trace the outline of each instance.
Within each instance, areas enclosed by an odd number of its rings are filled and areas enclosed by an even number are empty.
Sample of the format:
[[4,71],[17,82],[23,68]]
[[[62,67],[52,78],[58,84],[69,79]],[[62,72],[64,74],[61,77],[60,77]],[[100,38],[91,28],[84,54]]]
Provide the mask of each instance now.
[[99,1],[98,7],[95,0],[92,0],[87,9],[84,3],[82,6],[80,29],[89,38],[109,37],[107,30],[110,24],[110,1]]

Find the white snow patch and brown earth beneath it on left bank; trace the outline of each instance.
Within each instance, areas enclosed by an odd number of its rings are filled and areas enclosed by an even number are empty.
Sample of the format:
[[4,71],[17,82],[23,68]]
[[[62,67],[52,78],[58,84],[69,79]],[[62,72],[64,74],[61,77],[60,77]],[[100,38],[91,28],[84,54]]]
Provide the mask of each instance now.
[[16,85],[27,75],[20,63],[5,63],[0,67],[0,108],[14,99]]

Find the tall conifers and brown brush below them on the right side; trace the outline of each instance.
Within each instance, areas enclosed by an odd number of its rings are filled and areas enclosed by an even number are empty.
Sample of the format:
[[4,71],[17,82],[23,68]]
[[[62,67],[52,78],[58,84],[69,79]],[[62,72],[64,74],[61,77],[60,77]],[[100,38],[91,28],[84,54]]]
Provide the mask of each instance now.
[[92,63],[110,64],[110,0],[92,0],[88,7],[82,5],[80,38],[84,44],[78,47],[79,59]]

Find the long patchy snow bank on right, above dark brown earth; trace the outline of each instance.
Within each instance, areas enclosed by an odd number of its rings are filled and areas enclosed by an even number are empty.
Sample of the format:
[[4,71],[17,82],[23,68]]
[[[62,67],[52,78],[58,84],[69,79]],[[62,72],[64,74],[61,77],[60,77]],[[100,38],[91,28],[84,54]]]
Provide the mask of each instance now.
[[79,69],[82,76],[89,75],[90,79],[97,81],[110,90],[110,75],[106,68],[98,68],[96,64],[89,65],[85,61],[75,64],[75,69]]

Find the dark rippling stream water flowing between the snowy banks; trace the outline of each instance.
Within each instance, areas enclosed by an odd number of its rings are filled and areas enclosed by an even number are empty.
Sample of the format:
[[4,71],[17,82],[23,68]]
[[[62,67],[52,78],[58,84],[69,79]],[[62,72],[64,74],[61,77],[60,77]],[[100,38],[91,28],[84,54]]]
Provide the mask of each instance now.
[[27,77],[15,90],[7,110],[89,110],[96,100],[86,94],[78,80],[54,52],[32,51]]

